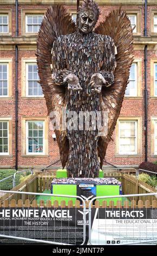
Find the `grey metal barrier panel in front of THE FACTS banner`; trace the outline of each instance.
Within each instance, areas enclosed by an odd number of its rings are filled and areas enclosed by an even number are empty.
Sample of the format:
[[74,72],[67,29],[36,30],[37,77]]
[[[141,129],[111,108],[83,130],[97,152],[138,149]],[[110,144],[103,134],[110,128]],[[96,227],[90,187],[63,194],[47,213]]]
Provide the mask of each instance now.
[[[136,204],[136,197],[146,196]],[[147,197],[152,196],[152,202]],[[91,199],[89,203],[89,245],[136,245],[157,244],[157,193],[103,196]],[[133,200],[128,200],[132,197]],[[110,201],[109,207],[107,200]],[[117,200],[117,199],[120,200]],[[122,199],[126,200],[122,203]],[[104,200],[102,207],[97,201]],[[93,211],[95,210],[95,211]]]

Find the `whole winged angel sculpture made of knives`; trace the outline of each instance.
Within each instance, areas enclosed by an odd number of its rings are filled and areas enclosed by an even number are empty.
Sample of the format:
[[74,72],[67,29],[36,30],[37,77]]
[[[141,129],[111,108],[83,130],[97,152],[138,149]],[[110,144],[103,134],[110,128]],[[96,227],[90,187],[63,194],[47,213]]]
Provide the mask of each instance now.
[[[124,11],[113,10],[95,28],[100,10],[85,0],[77,24],[61,5],[48,8],[38,33],[37,65],[62,167],[68,177],[99,176],[120,114],[133,62],[133,30]],[[66,111],[63,111],[66,109]]]

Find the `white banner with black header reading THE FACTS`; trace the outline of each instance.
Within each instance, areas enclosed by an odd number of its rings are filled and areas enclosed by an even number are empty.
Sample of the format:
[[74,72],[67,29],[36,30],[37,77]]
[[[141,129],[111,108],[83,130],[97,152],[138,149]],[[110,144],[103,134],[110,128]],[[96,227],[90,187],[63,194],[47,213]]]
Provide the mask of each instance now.
[[157,209],[96,209],[92,245],[146,244],[145,240],[157,240]]

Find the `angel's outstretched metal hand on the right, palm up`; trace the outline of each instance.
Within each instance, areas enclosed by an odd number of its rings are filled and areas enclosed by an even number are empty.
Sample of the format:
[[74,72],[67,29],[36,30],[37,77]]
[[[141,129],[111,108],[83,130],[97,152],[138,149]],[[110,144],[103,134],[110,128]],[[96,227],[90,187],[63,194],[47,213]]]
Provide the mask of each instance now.
[[101,93],[102,84],[106,84],[106,80],[100,73],[95,73],[91,76],[88,86],[90,86],[91,92]]

